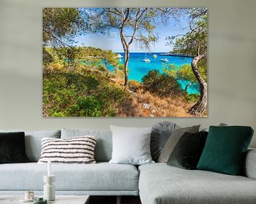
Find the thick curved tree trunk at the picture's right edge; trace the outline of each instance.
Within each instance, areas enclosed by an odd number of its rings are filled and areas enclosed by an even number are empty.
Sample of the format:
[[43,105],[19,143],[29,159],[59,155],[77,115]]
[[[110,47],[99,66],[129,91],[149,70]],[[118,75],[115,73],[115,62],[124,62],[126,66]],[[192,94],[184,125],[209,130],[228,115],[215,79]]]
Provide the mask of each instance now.
[[198,72],[197,68],[197,62],[203,57],[203,55],[198,55],[193,58],[191,62],[191,67],[193,70],[193,74],[195,74],[195,77],[198,81],[198,84],[200,86],[200,98],[198,102],[192,106],[192,108],[188,111],[188,113],[191,113],[193,115],[202,115],[203,111],[206,110],[207,107],[207,83],[203,80],[201,77],[200,72]]

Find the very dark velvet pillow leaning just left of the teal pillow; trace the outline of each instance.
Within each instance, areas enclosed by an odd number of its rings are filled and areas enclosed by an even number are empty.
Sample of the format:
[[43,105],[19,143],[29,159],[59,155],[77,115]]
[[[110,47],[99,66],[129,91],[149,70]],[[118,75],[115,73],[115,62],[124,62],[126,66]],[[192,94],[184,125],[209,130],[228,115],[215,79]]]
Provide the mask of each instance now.
[[185,132],[171,152],[167,164],[181,169],[196,169],[203,147],[206,144],[207,135],[208,132],[205,131],[198,133]]

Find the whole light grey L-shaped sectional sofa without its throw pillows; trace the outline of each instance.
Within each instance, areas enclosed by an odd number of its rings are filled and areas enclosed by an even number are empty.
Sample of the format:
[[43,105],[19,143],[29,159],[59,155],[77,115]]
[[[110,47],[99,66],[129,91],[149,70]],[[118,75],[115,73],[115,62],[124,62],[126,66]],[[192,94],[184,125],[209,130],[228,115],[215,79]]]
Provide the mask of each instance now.
[[[10,132],[10,130],[0,130]],[[53,164],[56,194],[140,196],[142,204],[256,203],[256,149],[245,158],[244,176],[185,170],[165,163],[133,166],[109,164],[112,157],[110,131],[25,131],[29,163],[0,164],[0,195],[33,190],[43,193],[47,164],[37,164],[43,137],[95,135],[97,164]],[[117,199],[119,200],[119,199]]]

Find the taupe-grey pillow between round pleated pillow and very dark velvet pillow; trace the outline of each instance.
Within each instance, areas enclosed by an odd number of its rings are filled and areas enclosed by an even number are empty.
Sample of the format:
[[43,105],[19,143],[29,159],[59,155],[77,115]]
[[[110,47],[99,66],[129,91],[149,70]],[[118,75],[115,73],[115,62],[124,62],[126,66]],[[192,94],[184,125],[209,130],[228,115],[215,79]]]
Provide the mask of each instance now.
[[166,163],[171,155],[171,152],[174,150],[178,140],[185,132],[196,133],[199,130],[200,125],[195,125],[187,128],[178,128],[171,133],[171,136],[164,145],[164,149],[161,151],[158,161],[161,163]]

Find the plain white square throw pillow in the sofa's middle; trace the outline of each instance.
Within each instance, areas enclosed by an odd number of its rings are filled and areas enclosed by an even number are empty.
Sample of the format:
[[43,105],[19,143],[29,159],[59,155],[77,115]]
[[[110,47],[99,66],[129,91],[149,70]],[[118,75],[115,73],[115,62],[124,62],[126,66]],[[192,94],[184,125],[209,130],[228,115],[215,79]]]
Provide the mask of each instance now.
[[112,132],[112,159],[114,164],[154,163],[150,154],[151,128],[124,128],[110,125]]

